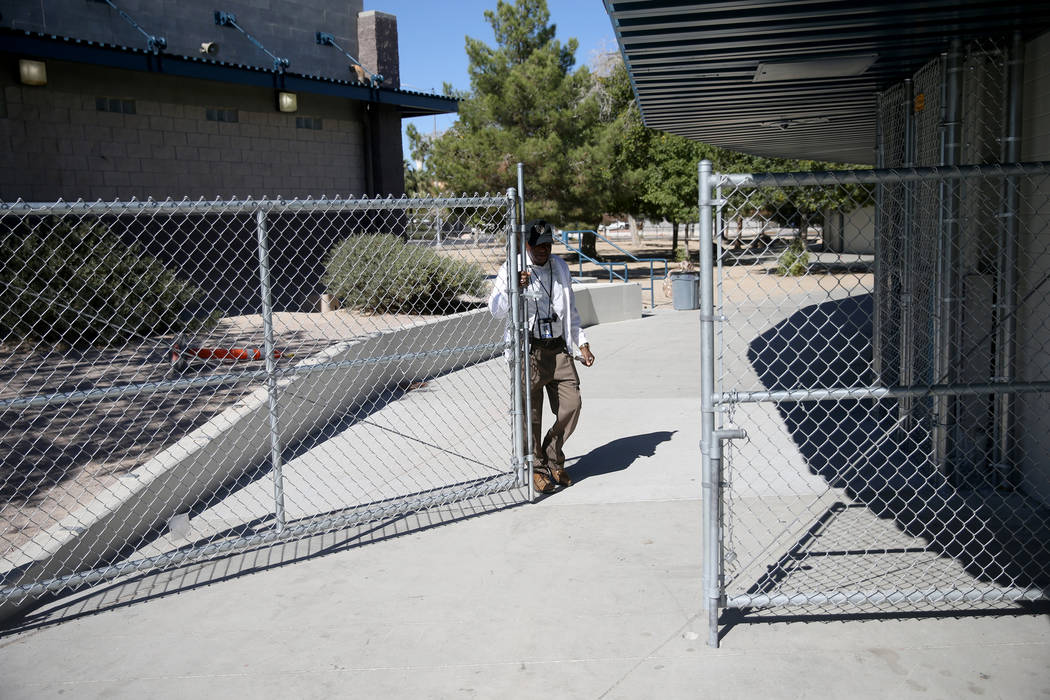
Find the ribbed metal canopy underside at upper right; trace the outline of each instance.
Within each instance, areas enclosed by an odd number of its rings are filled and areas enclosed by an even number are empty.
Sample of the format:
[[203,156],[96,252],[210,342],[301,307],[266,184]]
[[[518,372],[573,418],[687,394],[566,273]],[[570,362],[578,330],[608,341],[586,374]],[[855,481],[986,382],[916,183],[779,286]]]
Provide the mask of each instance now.
[[949,40],[1050,28],[1045,1],[605,5],[647,126],[756,155],[858,164],[875,160],[876,94]]

